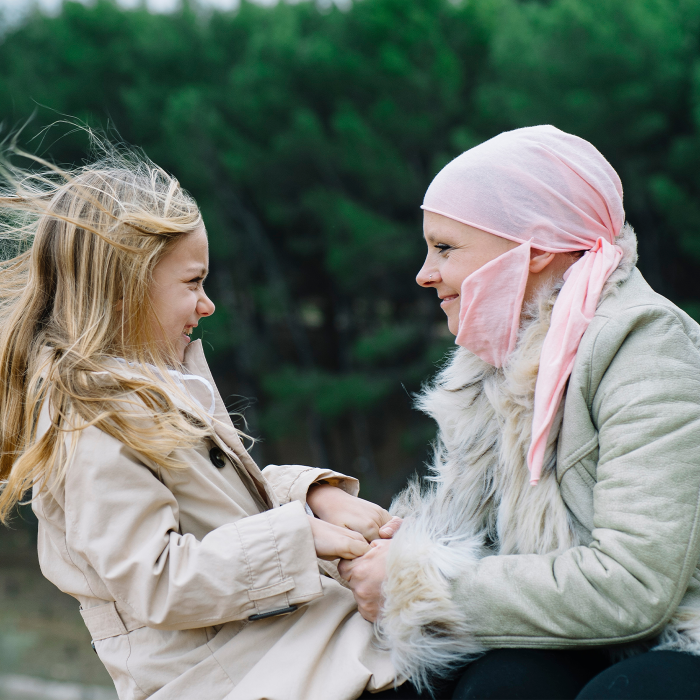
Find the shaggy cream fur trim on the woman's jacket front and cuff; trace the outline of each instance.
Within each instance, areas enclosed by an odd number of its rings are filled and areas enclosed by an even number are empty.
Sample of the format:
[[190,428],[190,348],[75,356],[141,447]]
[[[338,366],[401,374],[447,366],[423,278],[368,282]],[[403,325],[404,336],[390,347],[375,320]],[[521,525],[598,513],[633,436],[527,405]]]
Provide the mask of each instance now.
[[[623,256],[601,302],[637,261],[629,225],[616,243]],[[483,651],[451,600],[449,580],[460,569],[486,554],[544,554],[580,544],[556,479],[564,399],[537,488],[527,468],[539,358],[561,284],[542,290],[525,309],[504,368],[458,348],[419,397],[418,407],[438,424],[438,438],[427,488],[414,482],[392,505],[393,514],[410,517],[390,550],[380,622],[397,669],[419,687]]]

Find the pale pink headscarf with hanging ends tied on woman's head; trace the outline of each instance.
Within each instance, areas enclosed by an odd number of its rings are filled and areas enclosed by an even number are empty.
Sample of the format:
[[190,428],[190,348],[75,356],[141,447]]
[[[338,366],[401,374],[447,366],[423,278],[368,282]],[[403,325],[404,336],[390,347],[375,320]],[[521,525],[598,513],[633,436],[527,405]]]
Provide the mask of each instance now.
[[500,134],[448,163],[422,208],[523,244],[469,275],[461,289],[455,342],[496,367],[515,347],[530,249],[587,251],[564,276],[542,346],[527,455],[536,484],[579,343],[622,256],[614,243],[625,220],[620,178],[587,141],[534,126]]

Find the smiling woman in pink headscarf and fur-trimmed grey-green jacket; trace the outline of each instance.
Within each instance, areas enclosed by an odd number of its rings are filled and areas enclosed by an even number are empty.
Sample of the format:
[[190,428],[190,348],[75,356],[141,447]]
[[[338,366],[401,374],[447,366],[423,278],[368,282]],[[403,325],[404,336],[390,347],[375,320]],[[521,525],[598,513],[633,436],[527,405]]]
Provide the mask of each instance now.
[[700,327],[636,269],[617,174],[519,129],[423,209],[461,347],[419,401],[430,484],[341,565],[360,611],[418,685],[478,659],[456,699],[700,697]]

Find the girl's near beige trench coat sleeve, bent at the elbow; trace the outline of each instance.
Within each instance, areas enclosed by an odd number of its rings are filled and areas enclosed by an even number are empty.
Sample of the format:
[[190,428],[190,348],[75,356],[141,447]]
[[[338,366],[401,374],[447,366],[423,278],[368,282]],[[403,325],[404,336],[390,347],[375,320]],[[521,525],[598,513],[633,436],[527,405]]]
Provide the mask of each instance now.
[[[89,434],[88,434],[89,431]],[[66,475],[66,544],[143,624],[189,629],[323,595],[304,508],[289,503],[197,540],[170,490],[122,443],[83,431]]]

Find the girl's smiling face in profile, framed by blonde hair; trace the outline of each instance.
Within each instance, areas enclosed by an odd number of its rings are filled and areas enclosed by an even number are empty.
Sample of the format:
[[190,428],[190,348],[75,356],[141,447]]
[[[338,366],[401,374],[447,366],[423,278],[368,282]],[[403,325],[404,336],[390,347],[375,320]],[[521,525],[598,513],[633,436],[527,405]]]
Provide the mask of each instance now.
[[209,246],[204,227],[186,233],[153,268],[151,302],[160,322],[156,332],[165,353],[172,347],[182,362],[192,329],[214,313],[203,284],[209,272]]

